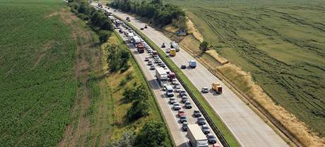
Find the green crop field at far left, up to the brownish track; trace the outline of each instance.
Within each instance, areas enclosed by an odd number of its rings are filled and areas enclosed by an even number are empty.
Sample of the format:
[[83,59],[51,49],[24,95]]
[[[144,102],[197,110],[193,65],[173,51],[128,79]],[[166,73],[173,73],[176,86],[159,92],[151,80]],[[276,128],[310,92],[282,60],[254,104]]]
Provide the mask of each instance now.
[[77,81],[64,1],[0,0],[0,146],[57,146]]

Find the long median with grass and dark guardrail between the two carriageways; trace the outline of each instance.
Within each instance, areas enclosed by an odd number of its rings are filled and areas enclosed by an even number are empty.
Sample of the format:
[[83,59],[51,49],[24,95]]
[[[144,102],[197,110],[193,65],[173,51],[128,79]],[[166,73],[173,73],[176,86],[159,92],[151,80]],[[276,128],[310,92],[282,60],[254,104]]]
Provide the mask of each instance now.
[[[117,15],[114,15],[114,17],[119,18]],[[201,93],[194,87],[194,85],[189,81],[189,79],[186,76],[180,76],[180,75],[184,75],[184,73],[182,73],[182,71],[179,70],[179,68],[177,68],[177,65],[175,65],[175,63],[173,63],[172,60],[167,60],[170,58],[167,58],[166,56],[164,56],[163,51],[155,43],[153,43],[153,41],[151,41],[148,37],[146,37],[145,34],[143,34],[136,27],[134,27],[134,25],[131,25],[130,23],[123,20],[122,18],[119,18],[119,20],[122,20],[124,23],[126,23],[126,25],[129,25],[129,27],[131,27],[136,33],[138,33],[143,38],[143,40],[145,40],[148,43],[148,45],[151,48],[158,51],[158,56],[160,56],[160,58],[166,63],[166,65],[170,68],[170,70],[172,70],[172,72],[175,72],[177,79],[179,79],[179,82],[181,82],[184,85],[184,89],[187,90],[189,95],[193,98],[194,103],[196,103],[199,110],[201,110],[204,117],[206,117],[207,122],[211,125],[211,129],[213,129],[213,132],[215,132],[215,134],[218,136],[218,139],[220,139],[220,143],[222,143],[224,147],[230,147],[230,143],[228,143],[228,141],[225,139],[225,136],[223,135],[223,133],[226,133],[226,134],[231,135],[231,136],[228,136],[228,139],[232,139],[232,142],[235,142],[233,146],[236,146],[236,145],[240,146],[240,144],[237,142],[235,137],[231,134],[228,127],[226,127],[224,122],[220,119],[220,117],[218,117],[218,114],[216,114],[215,111],[212,110],[210,104],[207,103],[207,101],[205,100],[205,98],[203,98],[203,96],[201,96]],[[186,82],[184,82],[184,81],[186,81]],[[191,88],[188,87],[188,85],[191,85]],[[196,94],[194,94],[192,91],[196,91]],[[201,99],[201,101],[199,101],[198,97]],[[202,106],[201,103],[205,103],[206,107]],[[206,111],[206,109],[211,109],[213,112],[212,112],[212,114],[210,113],[210,115],[215,115],[215,119],[217,119],[218,122],[221,122],[223,127],[225,127],[226,130],[224,129],[223,133],[217,127],[217,125],[216,125],[217,123],[215,123],[215,121],[213,121],[213,119],[211,119],[211,117],[210,117],[209,113]],[[220,124],[220,123],[218,123],[218,124]]]

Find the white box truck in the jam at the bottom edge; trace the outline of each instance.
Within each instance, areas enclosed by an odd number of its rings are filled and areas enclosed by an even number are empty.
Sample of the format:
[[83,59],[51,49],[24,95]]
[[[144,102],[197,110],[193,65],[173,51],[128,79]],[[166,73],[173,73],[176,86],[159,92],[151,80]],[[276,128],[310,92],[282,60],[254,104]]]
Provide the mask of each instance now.
[[187,124],[187,136],[193,147],[208,147],[208,139],[203,134],[199,124]]

